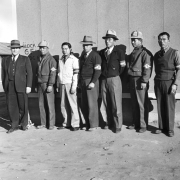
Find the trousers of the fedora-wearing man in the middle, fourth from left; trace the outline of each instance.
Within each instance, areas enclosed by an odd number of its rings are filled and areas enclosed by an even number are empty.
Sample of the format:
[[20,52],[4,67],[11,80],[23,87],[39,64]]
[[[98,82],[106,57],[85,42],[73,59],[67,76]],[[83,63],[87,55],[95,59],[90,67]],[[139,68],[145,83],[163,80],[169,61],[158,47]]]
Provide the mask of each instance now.
[[91,79],[81,80],[81,106],[87,128],[99,126],[99,81],[93,89],[87,89]]

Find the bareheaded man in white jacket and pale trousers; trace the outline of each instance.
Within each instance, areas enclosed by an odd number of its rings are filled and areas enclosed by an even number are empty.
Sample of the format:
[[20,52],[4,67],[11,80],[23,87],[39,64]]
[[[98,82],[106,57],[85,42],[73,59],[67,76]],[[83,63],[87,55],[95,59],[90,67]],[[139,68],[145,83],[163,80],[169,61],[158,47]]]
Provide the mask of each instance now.
[[61,48],[63,56],[59,60],[56,87],[57,92],[60,92],[60,107],[64,123],[58,129],[70,128],[71,131],[77,131],[80,124],[76,94],[79,59],[71,53],[70,43],[64,42]]

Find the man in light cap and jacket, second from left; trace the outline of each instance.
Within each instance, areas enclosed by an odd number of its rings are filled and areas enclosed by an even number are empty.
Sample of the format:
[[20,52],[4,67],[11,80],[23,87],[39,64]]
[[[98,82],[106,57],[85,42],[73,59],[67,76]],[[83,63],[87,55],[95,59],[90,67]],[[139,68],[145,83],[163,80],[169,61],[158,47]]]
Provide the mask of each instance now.
[[36,87],[38,88],[41,125],[37,128],[44,129],[48,124],[49,130],[52,130],[55,125],[53,85],[55,84],[57,63],[49,53],[47,41],[41,41],[38,46],[41,56],[38,61]]

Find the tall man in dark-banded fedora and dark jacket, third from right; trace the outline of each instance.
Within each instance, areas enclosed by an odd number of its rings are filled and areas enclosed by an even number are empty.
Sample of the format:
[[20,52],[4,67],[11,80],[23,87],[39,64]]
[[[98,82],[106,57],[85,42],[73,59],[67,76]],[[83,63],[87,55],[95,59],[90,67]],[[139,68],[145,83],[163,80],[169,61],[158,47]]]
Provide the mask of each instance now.
[[118,37],[114,30],[108,30],[105,39],[106,48],[99,54],[102,59],[101,74],[101,113],[106,122],[105,129],[112,128],[115,133],[121,131],[122,116],[122,85],[120,74],[126,66],[125,53],[115,46]]

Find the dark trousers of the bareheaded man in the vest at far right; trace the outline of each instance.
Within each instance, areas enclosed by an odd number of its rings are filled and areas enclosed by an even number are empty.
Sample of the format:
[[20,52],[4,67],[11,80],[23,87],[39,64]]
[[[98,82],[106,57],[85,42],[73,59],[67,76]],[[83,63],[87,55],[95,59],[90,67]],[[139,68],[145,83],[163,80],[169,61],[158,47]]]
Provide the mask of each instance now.
[[155,94],[157,98],[157,110],[159,129],[174,130],[175,118],[175,94],[171,93],[173,81],[155,80]]

